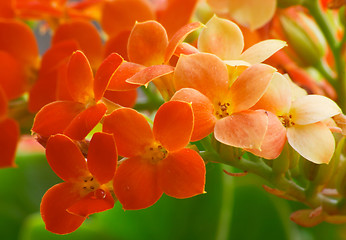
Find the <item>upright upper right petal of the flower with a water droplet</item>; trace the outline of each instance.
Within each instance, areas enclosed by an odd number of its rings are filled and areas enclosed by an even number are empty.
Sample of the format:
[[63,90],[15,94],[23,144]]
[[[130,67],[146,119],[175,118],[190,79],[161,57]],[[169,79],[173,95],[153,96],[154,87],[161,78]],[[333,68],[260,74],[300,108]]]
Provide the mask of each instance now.
[[88,168],[100,184],[111,181],[117,167],[118,153],[113,135],[95,133],[88,149]]

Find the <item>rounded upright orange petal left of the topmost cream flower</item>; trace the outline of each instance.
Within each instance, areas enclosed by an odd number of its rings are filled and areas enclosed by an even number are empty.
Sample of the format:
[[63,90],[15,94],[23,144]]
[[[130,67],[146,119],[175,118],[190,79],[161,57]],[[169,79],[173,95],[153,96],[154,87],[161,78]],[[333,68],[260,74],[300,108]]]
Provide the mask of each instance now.
[[136,23],[129,37],[127,54],[131,62],[145,66],[159,65],[164,62],[167,45],[166,30],[160,23]]

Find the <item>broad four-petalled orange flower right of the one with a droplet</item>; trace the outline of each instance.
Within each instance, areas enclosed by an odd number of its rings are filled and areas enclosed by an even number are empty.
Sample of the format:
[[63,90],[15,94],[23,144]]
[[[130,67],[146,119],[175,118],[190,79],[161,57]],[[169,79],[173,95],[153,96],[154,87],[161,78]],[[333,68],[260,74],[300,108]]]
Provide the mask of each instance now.
[[191,106],[180,101],[159,108],[153,129],[133,109],[117,109],[105,117],[103,130],[114,134],[119,155],[127,158],[113,181],[124,209],[149,207],[162,193],[188,198],[204,192],[204,161],[185,148],[192,129]]

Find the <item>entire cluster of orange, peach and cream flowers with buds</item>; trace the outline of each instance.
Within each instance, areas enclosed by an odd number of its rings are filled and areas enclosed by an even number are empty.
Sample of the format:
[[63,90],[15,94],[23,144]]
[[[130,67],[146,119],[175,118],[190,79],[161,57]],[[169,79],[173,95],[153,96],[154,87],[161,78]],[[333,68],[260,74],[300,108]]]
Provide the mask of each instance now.
[[[292,214],[301,225],[344,222],[345,33],[337,23],[323,36],[307,12],[321,10],[315,0],[287,5],[2,1],[0,167],[15,165],[19,125],[34,116],[29,128],[64,181],[41,203],[58,234],[116,201],[136,210],[163,193],[203,194],[209,161],[267,176],[268,192],[306,203],[314,210]],[[42,56],[25,21],[52,31]]]

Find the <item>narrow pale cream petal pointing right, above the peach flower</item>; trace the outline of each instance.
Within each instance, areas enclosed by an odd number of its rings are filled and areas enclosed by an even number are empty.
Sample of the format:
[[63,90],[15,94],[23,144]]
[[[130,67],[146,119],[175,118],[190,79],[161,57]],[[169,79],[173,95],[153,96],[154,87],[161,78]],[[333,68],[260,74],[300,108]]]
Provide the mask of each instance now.
[[239,59],[250,64],[261,63],[285,46],[287,43],[282,40],[264,40],[246,49]]

